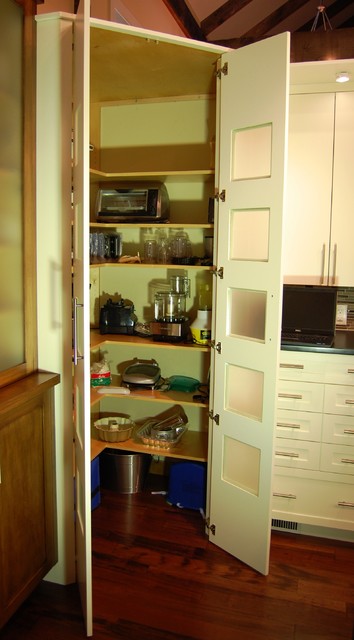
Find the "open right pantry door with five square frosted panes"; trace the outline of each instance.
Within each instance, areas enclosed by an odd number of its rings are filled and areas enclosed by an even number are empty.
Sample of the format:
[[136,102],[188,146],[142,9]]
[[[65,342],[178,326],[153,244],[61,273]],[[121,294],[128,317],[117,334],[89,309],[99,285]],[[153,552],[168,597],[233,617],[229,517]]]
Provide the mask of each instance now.
[[224,54],[218,98],[219,348],[209,537],[263,574],[271,530],[288,74],[289,36],[282,34]]

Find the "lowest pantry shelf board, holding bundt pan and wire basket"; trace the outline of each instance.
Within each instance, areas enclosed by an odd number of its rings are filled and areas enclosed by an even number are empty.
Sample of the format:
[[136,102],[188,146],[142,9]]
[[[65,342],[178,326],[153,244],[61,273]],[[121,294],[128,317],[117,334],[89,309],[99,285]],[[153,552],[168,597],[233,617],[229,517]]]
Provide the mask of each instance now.
[[106,448],[132,451],[133,453],[148,453],[150,455],[163,456],[164,458],[181,458],[183,460],[206,462],[208,459],[208,434],[188,430],[171,449],[149,447],[140,442],[134,435],[125,442],[103,442],[102,440],[91,438],[91,460]]

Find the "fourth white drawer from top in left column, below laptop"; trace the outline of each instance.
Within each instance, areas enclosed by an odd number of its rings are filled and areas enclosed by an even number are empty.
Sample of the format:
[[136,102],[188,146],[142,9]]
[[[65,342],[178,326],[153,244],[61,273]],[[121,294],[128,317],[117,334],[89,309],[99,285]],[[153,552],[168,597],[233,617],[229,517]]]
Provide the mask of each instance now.
[[278,467],[318,471],[320,468],[320,454],[320,442],[276,438],[274,464]]

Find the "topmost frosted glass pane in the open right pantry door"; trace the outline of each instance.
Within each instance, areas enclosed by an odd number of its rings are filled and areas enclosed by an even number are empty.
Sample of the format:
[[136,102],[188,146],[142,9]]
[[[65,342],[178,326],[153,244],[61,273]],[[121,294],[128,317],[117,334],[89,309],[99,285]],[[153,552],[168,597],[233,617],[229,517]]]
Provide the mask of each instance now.
[[269,178],[271,157],[271,124],[232,132],[231,180]]

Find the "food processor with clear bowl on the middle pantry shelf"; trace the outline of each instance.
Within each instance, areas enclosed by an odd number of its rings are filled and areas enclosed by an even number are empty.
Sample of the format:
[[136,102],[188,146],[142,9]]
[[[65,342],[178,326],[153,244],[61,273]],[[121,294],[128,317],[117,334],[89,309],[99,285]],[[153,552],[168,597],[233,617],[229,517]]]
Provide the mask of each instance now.
[[159,342],[181,342],[189,333],[189,318],[186,314],[189,279],[185,276],[173,276],[170,282],[170,291],[157,291],[155,294],[155,319],[150,323],[150,329],[153,339]]

